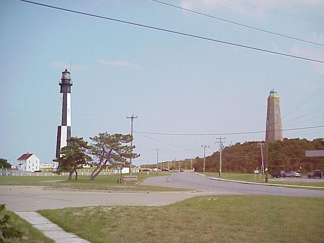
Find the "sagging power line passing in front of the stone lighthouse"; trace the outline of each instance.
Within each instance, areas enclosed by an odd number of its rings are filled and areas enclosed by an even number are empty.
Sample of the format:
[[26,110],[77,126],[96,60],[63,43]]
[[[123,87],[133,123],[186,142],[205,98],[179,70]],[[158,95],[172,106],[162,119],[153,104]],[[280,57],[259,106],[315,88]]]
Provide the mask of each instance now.
[[[292,131],[292,130],[323,128],[323,127],[324,126],[314,126],[314,127],[304,127],[304,128],[291,128],[291,129],[274,130],[274,131],[268,131],[268,132]],[[220,136],[220,135],[242,135],[242,134],[265,133],[265,131],[258,131],[258,132],[240,132],[240,133],[199,133],[199,134],[188,134],[188,133],[151,133],[151,132],[141,132],[141,131],[136,131],[135,132],[134,131],[134,133],[139,134],[141,136],[144,136],[143,134],[168,135],[168,136]]]

